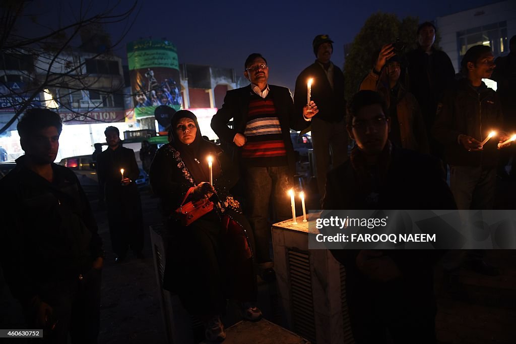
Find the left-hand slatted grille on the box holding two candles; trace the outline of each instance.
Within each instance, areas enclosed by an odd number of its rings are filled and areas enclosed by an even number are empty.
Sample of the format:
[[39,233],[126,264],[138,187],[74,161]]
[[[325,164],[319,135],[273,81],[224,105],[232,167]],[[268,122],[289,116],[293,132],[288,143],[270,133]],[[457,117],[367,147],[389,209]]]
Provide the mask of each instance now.
[[315,315],[308,252],[288,249],[288,273],[292,293],[294,332],[315,343]]

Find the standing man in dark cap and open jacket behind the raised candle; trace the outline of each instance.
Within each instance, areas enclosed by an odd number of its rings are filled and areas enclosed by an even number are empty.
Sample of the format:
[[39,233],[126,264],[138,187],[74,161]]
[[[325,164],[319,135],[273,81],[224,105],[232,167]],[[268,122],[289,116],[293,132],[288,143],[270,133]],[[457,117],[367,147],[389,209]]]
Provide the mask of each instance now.
[[[326,173],[330,164],[338,166],[348,157],[348,134],[344,116],[344,74],[331,61],[333,41],[328,35],[317,35],[312,42],[315,62],[297,77],[294,91],[296,112],[301,113],[308,102],[309,79],[313,79],[311,99],[317,104],[319,114],[310,120],[314,146],[319,194],[324,196]],[[307,119],[309,120],[309,119]],[[331,148],[331,159],[330,159]]]

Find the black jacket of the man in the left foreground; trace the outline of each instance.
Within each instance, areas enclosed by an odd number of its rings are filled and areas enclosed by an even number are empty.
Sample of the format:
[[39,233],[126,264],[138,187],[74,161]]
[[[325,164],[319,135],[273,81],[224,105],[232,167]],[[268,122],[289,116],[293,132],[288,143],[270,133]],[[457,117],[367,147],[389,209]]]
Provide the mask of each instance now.
[[52,164],[51,183],[23,165],[0,180],[0,255],[13,296],[27,301],[49,280],[77,278],[103,256],[90,205],[72,170]]

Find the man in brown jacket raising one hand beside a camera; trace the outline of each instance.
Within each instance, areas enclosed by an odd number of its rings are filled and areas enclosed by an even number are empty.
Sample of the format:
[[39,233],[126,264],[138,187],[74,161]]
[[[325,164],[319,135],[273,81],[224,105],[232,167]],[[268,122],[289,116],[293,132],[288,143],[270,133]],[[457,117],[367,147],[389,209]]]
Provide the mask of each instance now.
[[419,104],[399,83],[400,73],[401,59],[394,53],[393,45],[386,44],[360,89],[377,91],[385,101],[391,118],[389,140],[392,144],[428,154],[428,139]]

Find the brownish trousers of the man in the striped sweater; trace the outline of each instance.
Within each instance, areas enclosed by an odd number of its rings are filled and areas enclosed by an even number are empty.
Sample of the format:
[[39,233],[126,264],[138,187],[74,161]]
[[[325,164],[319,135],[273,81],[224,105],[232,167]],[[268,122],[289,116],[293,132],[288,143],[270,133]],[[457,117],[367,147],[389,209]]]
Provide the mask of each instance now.
[[255,262],[261,269],[272,267],[270,246],[269,206],[272,204],[272,221],[286,220],[292,216],[287,195],[292,183],[287,166],[248,167],[245,170],[247,204],[245,214],[254,233]]

